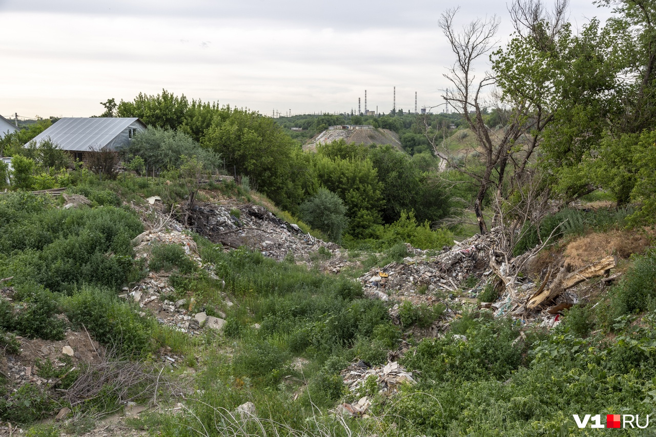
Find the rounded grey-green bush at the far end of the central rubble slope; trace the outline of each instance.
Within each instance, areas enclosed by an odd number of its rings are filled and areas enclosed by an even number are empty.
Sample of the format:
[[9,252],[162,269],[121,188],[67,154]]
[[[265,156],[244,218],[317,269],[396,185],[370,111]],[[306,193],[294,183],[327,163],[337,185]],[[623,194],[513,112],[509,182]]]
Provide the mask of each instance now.
[[337,194],[319,188],[315,196],[300,205],[304,222],[328,236],[331,241],[339,241],[346,228],[346,207]]

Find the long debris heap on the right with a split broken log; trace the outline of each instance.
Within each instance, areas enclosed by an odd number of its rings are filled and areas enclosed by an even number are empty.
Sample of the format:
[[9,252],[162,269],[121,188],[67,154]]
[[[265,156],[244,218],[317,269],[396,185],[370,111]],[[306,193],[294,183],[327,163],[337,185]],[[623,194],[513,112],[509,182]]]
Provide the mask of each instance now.
[[[575,272],[569,271],[564,262],[557,263],[550,266],[539,281],[536,280],[537,285],[520,274],[531,253],[504,262],[505,258],[497,250],[501,233],[495,231],[456,243],[436,256],[415,249],[417,255],[406,257],[403,262],[391,262],[383,268],[373,268],[359,281],[365,295],[388,302],[390,316],[395,320],[399,303],[403,301],[428,306],[444,303],[448,318],[453,301],[476,303],[478,293],[485,283],[490,282],[497,287],[500,297],[496,302],[478,304],[480,308],[489,308],[497,316],[510,314],[552,327],[559,322],[562,310],[579,301],[579,291],[583,288],[577,289],[577,285],[605,276],[598,283],[605,286],[617,277],[617,274],[609,276],[611,268],[617,265],[617,259],[611,256]],[[465,283],[470,283],[472,288]]]

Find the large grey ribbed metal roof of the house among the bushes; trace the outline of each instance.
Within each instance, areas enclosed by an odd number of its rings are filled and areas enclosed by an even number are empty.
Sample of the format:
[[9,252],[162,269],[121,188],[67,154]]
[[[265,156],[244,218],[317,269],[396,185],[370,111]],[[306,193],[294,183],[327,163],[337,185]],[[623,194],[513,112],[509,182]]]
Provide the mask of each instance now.
[[53,123],[51,127],[37,135],[34,140],[38,144],[50,137],[52,142],[55,142],[64,150],[87,152],[91,146],[103,148],[137,120],[136,117],[67,117]]

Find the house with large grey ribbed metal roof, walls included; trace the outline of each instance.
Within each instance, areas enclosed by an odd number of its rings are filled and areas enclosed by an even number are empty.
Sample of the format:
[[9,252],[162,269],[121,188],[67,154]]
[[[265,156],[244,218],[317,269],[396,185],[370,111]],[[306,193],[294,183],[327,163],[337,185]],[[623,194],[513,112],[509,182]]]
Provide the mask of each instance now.
[[66,117],[37,135],[37,144],[50,138],[62,150],[68,150],[75,158],[83,159],[87,152],[121,150],[130,144],[146,125],[138,118],[116,117]]

